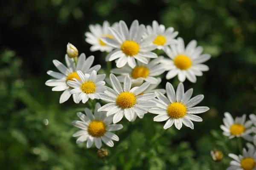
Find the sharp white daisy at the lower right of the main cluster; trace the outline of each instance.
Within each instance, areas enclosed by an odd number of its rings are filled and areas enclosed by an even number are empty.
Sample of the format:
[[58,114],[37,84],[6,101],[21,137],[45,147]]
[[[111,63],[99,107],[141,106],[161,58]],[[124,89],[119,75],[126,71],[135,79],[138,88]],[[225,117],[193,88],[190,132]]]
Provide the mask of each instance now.
[[194,107],[204,99],[204,95],[192,96],[193,89],[189,89],[184,93],[184,86],[180,82],[175,94],[174,88],[171,83],[166,83],[167,97],[159,92],[155,92],[157,99],[154,102],[157,103],[157,108],[151,108],[148,110],[150,113],[158,114],[154,117],[155,122],[166,121],[164,129],[171,127],[173,124],[180,130],[182,124],[191,129],[194,129],[192,121],[202,122],[203,119],[194,114],[204,113],[209,110],[208,107]]

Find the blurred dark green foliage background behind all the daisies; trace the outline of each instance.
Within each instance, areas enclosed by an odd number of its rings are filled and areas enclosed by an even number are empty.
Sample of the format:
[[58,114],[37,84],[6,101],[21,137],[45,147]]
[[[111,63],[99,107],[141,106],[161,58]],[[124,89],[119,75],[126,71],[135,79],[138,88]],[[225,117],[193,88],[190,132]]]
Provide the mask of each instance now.
[[[255,0],[9,0],[0,2],[0,168],[6,170],[224,170],[228,153],[239,154],[236,139],[223,136],[224,111],[233,116],[256,113]],[[76,144],[71,125],[85,104],[44,85],[56,71],[52,59],[64,62],[67,42],[94,55],[105,68],[105,54],[90,52],[84,41],[89,24],[133,20],[145,25],[157,20],[179,31],[187,44],[197,40],[210,70],[197,83],[193,96],[210,110],[195,129],[153,122],[154,115],[129,123],[123,119],[120,141],[99,159],[96,147]],[[103,70],[102,70],[103,72]],[[163,79],[162,87],[166,80]],[[169,82],[177,87],[177,79]],[[243,141],[245,144],[245,141]],[[209,154],[222,150],[224,159]]]

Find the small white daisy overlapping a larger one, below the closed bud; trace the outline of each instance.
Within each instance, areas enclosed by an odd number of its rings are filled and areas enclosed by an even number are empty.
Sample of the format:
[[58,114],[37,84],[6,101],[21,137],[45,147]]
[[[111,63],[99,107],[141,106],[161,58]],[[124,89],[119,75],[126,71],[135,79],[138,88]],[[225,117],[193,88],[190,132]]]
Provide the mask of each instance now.
[[73,89],[70,94],[79,94],[78,101],[86,103],[88,99],[100,99],[101,92],[104,92],[106,88],[104,87],[106,77],[105,74],[98,74],[94,70],[91,74],[83,74],[81,71],[77,71],[79,79],[74,78],[73,81],[67,81],[67,84]]

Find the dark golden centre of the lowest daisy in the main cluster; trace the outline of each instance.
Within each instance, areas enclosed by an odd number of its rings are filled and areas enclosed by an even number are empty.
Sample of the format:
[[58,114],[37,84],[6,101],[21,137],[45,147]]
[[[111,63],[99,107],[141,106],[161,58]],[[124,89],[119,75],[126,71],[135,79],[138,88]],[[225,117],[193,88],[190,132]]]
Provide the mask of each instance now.
[[106,132],[106,125],[100,120],[93,120],[93,122],[90,122],[87,131],[93,137],[104,136]]

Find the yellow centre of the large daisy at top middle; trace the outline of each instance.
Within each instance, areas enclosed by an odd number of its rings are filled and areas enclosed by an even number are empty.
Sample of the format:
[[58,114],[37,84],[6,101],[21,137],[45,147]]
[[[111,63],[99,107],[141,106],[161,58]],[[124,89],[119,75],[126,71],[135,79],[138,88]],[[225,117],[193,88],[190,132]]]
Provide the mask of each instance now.
[[121,45],[121,50],[123,51],[123,53],[125,53],[127,56],[134,56],[136,54],[138,54],[139,50],[140,50],[140,46],[139,44],[137,44],[137,42],[135,41],[125,41],[122,45]]

